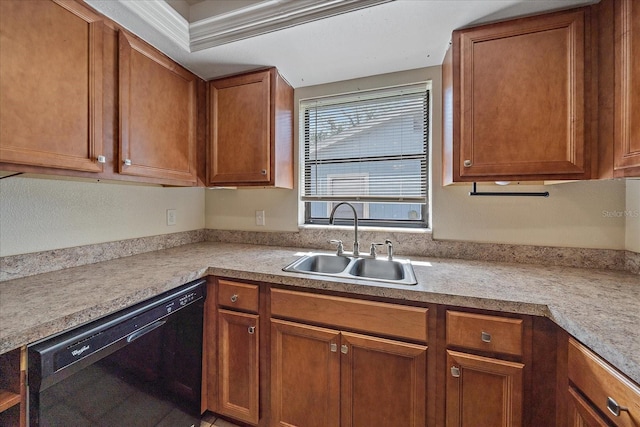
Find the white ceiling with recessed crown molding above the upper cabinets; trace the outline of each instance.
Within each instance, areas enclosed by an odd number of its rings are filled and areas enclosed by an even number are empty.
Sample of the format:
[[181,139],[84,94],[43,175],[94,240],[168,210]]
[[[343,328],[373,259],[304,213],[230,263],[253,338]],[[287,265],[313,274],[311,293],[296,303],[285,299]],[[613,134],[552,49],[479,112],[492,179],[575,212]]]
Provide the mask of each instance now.
[[[294,87],[440,65],[451,32],[456,28],[595,2],[85,1],[205,80],[276,66]],[[346,12],[341,8],[347,3],[360,8]],[[330,10],[329,15],[333,13],[333,16],[326,18],[309,14],[310,22],[304,19],[287,22],[285,18],[295,18],[295,14],[288,11],[291,8],[300,9],[302,4],[309,8],[331,7],[335,10]],[[258,15],[259,19],[256,20],[255,16]],[[285,28],[268,28],[261,33],[265,21],[273,19]],[[241,34],[236,36],[240,37],[239,40],[229,41],[234,40],[235,34],[233,29],[227,28],[232,21],[241,29]],[[259,25],[254,25],[256,22]],[[224,29],[224,34],[216,39],[214,33],[218,29]]]

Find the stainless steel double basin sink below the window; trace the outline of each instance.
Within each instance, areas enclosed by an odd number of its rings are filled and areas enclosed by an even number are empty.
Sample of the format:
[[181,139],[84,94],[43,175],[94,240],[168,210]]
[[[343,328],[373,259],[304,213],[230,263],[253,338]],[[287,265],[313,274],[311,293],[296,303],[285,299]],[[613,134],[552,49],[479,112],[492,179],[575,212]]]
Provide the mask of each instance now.
[[408,259],[388,260],[310,253],[298,258],[283,270],[292,273],[371,280],[399,285],[418,283],[411,261]]

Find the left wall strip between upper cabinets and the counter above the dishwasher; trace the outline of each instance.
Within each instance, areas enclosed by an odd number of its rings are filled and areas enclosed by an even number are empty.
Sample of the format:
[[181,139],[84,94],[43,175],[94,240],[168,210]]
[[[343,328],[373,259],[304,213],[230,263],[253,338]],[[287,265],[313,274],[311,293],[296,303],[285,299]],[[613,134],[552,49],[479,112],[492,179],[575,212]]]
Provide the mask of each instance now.
[[[199,230],[204,191],[5,178],[0,180],[0,256]],[[167,209],[176,209],[174,226],[167,226]]]

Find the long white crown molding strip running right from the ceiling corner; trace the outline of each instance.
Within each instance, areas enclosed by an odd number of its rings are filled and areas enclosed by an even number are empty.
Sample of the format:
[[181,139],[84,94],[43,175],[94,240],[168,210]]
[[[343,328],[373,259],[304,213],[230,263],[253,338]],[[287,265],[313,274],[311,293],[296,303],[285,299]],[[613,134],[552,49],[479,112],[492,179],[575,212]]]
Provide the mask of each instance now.
[[207,49],[394,0],[264,0],[191,23],[191,51]]

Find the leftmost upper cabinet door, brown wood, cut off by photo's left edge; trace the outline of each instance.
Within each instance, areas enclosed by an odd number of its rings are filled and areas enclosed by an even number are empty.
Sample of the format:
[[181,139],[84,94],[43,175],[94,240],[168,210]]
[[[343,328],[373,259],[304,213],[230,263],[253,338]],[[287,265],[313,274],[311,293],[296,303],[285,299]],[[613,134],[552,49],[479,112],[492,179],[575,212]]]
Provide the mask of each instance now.
[[[2,59],[3,68],[7,67],[7,70],[3,69],[3,73],[7,74],[3,76],[3,85],[12,85],[15,87],[21,87],[22,92],[20,96],[26,101],[16,100],[7,95],[7,91],[4,91],[2,95],[2,138],[0,145],[0,162],[30,165],[38,167],[49,167],[56,169],[66,169],[69,171],[81,171],[98,173],[103,171],[102,163],[98,162],[98,156],[104,154],[103,152],[103,17],[93,13],[85,6],[77,2],[52,0],[48,4],[44,2],[3,2],[3,7],[15,7],[20,6],[35,6],[35,7],[54,7],[62,8],[64,11],[69,12],[81,19],[86,23],[86,87],[76,86],[75,90],[70,92],[68,89],[73,86],[75,82],[71,82],[70,85],[62,84],[58,78],[59,74],[54,75],[51,78],[47,75],[47,70],[43,69],[41,76],[38,78],[38,82],[23,81],[19,83],[14,79],[20,80],[25,77],[22,75],[19,69],[15,69],[18,66],[39,66],[42,64],[22,64],[17,65],[13,61],[8,59]],[[9,18],[10,19],[10,18]],[[51,19],[55,19],[51,17]],[[20,22],[16,22],[21,24]],[[53,25],[56,25],[54,22]],[[36,24],[36,27],[39,25]],[[25,31],[35,31],[33,27],[25,27]],[[55,29],[55,28],[54,28]],[[3,32],[11,31],[10,29],[2,29]],[[71,30],[69,30],[71,31]],[[57,40],[61,36],[58,33],[52,32],[51,34],[36,34],[37,37],[34,42],[47,41],[50,36],[54,40]],[[75,37],[76,34],[69,32],[67,37]],[[24,37],[19,36],[22,39]],[[24,40],[23,40],[24,41]],[[7,49],[3,46],[3,49]],[[44,48],[41,48],[41,50]],[[60,47],[62,49],[62,47]],[[51,55],[51,52],[45,54]],[[40,58],[43,61],[47,61],[47,58]],[[26,61],[24,59],[23,61]],[[66,65],[66,64],[65,64]],[[74,64],[72,64],[74,65]],[[75,71],[75,70],[74,70]],[[80,71],[78,71],[80,72]],[[68,78],[74,78],[69,76]],[[9,90],[10,88],[5,88]],[[44,96],[46,94],[46,97]],[[57,99],[56,99],[57,98]],[[9,99],[9,100],[7,100]],[[33,117],[37,114],[28,106],[29,104],[40,104],[38,110],[43,108],[42,104],[46,106],[47,103],[56,101],[55,104],[49,105],[49,110],[45,112],[45,116]],[[5,102],[11,102],[6,104]],[[67,104],[65,104],[67,103]],[[62,117],[58,117],[61,114],[73,114],[76,111],[83,110],[82,105],[85,104],[87,109],[82,111],[83,114],[80,117],[65,116],[64,123],[73,122],[73,131],[71,129],[61,129],[59,122]],[[73,108],[72,112],[67,113],[65,105],[71,104]],[[36,110],[36,111],[38,111]],[[33,120],[38,123],[33,129],[33,126],[29,126],[28,123],[24,123],[24,117],[22,117],[25,111],[29,112],[27,120]],[[10,116],[4,117],[4,114],[10,114]],[[17,114],[18,116],[11,116],[11,114]],[[56,114],[58,116],[56,116]],[[45,120],[43,120],[45,119]],[[51,126],[49,126],[51,125]],[[14,140],[18,138],[19,140]]]

